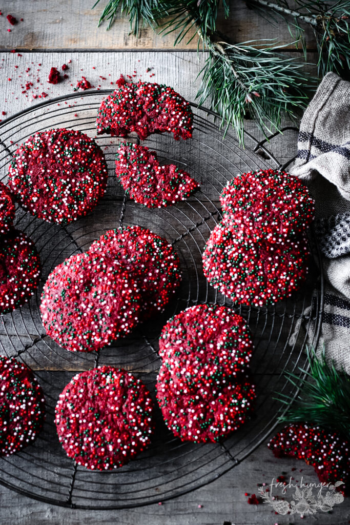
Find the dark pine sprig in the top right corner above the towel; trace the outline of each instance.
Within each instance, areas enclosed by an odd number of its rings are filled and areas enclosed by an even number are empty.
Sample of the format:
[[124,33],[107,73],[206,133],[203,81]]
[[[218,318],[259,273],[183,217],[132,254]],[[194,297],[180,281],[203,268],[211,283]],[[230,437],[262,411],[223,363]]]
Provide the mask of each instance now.
[[248,0],[264,18],[270,9],[287,22],[296,40],[305,45],[305,28],[310,26],[316,39],[319,59],[317,68],[324,76],[329,71],[348,75],[350,71],[350,0],[295,0],[293,8],[286,0]]

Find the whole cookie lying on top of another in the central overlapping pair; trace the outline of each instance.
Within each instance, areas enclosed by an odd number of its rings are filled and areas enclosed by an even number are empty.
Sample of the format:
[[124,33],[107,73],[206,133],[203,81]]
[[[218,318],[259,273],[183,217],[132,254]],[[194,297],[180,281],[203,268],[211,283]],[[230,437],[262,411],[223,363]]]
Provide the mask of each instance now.
[[73,255],[51,272],[40,310],[46,333],[58,344],[92,352],[135,327],[140,300],[124,268],[86,253]]

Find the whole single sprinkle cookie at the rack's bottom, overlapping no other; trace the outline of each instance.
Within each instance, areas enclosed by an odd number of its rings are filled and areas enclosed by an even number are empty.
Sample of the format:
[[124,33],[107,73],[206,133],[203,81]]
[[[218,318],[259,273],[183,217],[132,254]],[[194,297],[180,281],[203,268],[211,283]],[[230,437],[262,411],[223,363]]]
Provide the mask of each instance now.
[[129,463],[149,446],[154,430],[149,391],[139,379],[112,366],[73,377],[55,413],[67,456],[91,470]]

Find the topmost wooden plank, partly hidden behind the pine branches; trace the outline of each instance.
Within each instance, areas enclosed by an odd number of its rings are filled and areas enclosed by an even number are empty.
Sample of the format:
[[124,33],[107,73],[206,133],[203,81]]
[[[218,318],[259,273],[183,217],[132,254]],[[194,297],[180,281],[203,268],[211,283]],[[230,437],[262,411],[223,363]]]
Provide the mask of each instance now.
[[[98,21],[106,4],[106,0],[101,0],[95,9],[91,9],[93,1],[86,0],[36,0],[26,4],[23,0],[4,0],[3,15],[10,13],[18,20],[24,18],[24,21],[12,27],[5,16],[0,19],[0,48],[113,51],[173,48],[173,33],[160,36],[150,28],[143,28],[140,38],[136,38],[130,34],[130,26],[125,18],[116,20],[110,31],[105,31],[106,23],[98,28]],[[6,31],[7,28],[11,29],[10,33]],[[277,19],[274,26],[270,26],[254,10],[248,9],[244,2],[235,3],[228,19],[225,19],[221,10],[218,29],[235,41],[266,39],[271,38],[271,35],[276,43],[288,44],[292,41],[282,20]],[[194,34],[195,31],[190,30],[187,40]],[[180,43],[177,49],[197,49],[196,37],[188,46],[187,40]],[[307,43],[309,48],[315,47],[312,31],[307,31]]]

